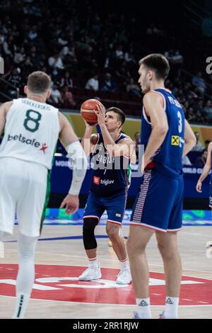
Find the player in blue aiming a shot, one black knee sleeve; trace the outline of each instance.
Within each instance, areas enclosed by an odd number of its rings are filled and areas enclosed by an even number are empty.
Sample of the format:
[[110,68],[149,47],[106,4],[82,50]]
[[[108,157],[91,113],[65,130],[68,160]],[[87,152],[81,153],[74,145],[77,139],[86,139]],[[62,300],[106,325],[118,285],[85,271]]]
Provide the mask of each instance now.
[[[125,115],[119,108],[109,108],[105,113],[102,103],[98,104],[98,117],[101,134],[94,134],[94,125],[86,123],[86,132],[82,145],[86,155],[93,154],[95,169],[92,184],[83,217],[83,244],[88,256],[89,266],[81,276],[80,281],[90,281],[101,278],[100,264],[97,259],[97,242],[95,227],[98,225],[104,211],[107,211],[106,232],[112,242],[114,252],[120,261],[121,271],[117,283],[131,283],[129,261],[126,247],[119,236],[126,206],[127,190],[130,182],[130,158],[136,159],[134,142],[121,132]],[[119,167],[115,167],[117,159]]]

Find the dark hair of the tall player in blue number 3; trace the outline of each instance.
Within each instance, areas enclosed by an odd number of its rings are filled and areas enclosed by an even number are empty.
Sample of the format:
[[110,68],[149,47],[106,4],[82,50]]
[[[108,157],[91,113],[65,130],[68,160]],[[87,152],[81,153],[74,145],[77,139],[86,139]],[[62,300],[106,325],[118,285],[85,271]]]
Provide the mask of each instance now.
[[155,72],[157,79],[166,79],[170,72],[170,64],[164,55],[160,53],[153,53],[143,57],[139,61],[139,66],[143,64],[148,69],[151,69]]

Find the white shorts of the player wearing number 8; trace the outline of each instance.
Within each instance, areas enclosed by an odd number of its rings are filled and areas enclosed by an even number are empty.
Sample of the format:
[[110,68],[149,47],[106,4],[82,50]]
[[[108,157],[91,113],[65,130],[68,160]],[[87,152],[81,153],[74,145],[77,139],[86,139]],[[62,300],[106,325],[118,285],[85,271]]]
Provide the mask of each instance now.
[[39,237],[47,195],[48,170],[41,164],[15,158],[0,159],[0,231],[13,234],[15,215],[19,232]]

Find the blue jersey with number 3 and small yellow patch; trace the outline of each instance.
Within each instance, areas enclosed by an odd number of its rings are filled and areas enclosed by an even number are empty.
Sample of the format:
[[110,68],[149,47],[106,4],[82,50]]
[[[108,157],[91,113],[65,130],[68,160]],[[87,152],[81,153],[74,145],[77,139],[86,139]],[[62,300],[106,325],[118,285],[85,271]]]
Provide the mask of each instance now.
[[[158,151],[155,152],[152,159],[158,171],[167,176],[179,178],[182,175],[184,112],[171,91],[165,88],[155,89],[153,91],[163,97],[163,106],[167,115],[169,129],[163,144],[159,147]],[[141,145],[144,145],[144,149],[146,149],[151,135],[152,125],[144,108],[141,120]]]

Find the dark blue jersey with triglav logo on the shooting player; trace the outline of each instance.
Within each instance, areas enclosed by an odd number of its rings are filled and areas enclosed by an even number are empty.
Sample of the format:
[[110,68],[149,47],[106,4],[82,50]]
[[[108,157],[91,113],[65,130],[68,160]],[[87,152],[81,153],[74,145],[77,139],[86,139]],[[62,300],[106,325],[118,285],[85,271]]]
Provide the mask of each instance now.
[[[115,143],[117,144],[127,138],[129,138],[127,135],[120,133]],[[93,168],[93,179],[90,191],[98,193],[100,196],[107,196],[120,191],[130,184],[130,159],[124,156],[110,156],[100,133],[98,133],[98,142],[95,152],[93,152],[91,166]]]

